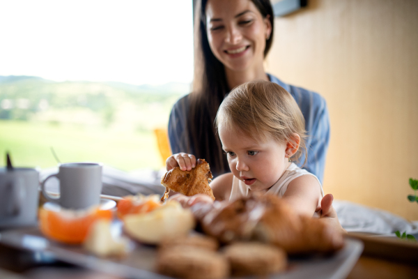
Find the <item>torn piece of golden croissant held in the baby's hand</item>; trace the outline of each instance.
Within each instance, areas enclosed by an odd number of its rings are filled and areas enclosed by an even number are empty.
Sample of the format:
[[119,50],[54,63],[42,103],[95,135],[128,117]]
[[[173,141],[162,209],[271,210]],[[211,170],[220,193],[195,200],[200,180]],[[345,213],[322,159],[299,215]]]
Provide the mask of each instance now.
[[[190,171],[183,171],[180,167],[174,167],[161,178],[162,186],[174,192],[193,196],[204,194],[215,200],[209,182],[212,181],[212,172],[208,162],[204,159],[198,159],[196,167]],[[165,195],[163,196],[164,199]]]

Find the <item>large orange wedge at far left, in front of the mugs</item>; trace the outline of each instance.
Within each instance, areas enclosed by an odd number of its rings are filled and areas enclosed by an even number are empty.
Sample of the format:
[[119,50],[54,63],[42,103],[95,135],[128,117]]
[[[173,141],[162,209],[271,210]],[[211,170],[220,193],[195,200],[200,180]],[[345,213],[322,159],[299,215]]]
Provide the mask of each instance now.
[[39,210],[39,227],[45,236],[68,244],[80,244],[86,239],[88,229],[99,219],[111,220],[110,210],[98,208],[84,211],[42,207]]

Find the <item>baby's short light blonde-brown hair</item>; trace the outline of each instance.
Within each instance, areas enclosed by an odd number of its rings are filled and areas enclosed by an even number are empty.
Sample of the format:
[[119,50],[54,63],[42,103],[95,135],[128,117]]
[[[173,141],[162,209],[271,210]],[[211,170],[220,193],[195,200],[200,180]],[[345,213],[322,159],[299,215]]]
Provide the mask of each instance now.
[[279,84],[258,80],[235,87],[220,105],[215,123],[218,129],[238,130],[263,142],[269,136],[281,143],[293,142],[292,134],[297,133],[300,148],[292,158],[300,158],[302,151],[306,154],[303,114]]

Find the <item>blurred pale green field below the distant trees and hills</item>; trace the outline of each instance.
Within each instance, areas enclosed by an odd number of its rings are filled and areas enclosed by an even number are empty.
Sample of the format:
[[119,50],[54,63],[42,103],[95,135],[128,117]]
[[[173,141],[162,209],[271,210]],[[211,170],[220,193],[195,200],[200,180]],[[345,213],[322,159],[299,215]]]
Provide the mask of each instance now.
[[125,171],[163,166],[152,131],[0,120],[0,156],[9,151],[16,167],[56,166],[51,147],[61,163],[93,161]]

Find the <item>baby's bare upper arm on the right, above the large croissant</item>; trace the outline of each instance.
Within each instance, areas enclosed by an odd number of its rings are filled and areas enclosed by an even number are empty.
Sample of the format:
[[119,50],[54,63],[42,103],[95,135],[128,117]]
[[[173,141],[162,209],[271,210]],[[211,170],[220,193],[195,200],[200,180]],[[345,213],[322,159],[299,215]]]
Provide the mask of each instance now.
[[295,213],[313,216],[320,209],[320,185],[314,176],[299,176],[289,183],[283,199]]

